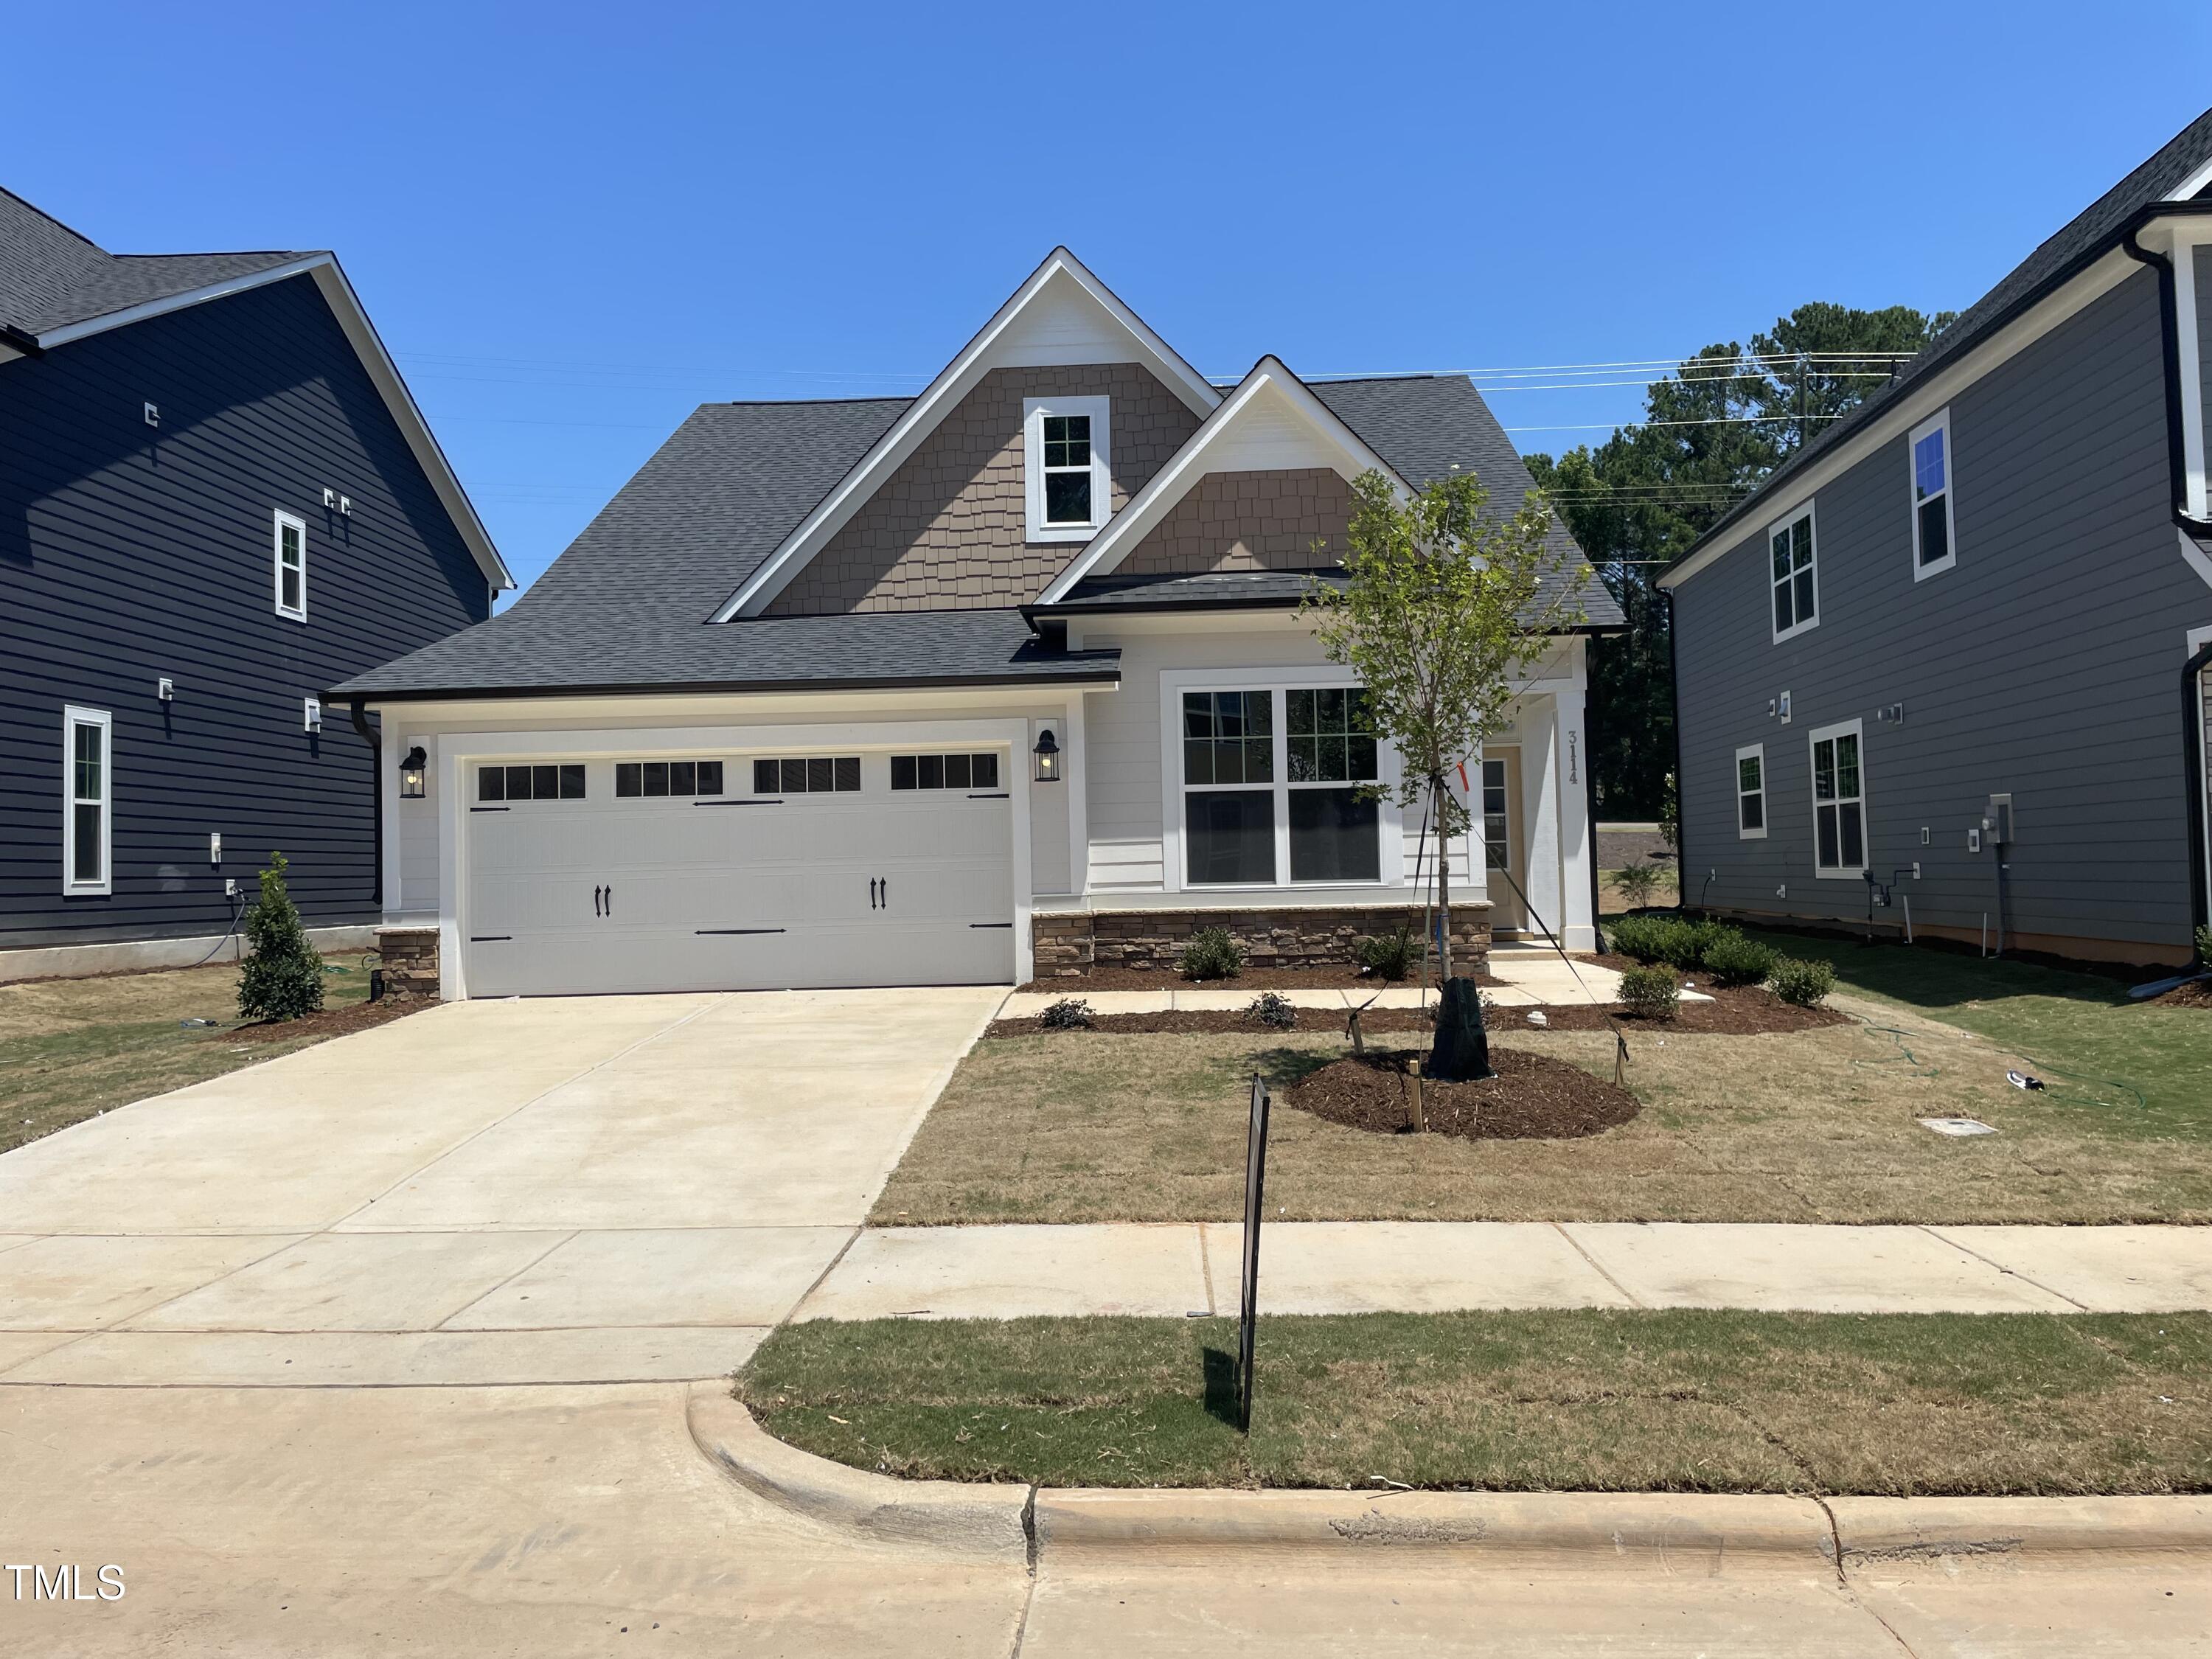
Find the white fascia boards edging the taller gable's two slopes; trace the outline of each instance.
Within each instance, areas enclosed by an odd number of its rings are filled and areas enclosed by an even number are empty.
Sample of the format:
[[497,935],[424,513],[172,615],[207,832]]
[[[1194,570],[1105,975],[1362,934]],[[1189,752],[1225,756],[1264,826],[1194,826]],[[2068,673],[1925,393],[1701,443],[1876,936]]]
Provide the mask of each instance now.
[[922,394],[907,405],[905,414],[891,422],[874,447],[860,456],[849,473],[838,480],[823,500],[807,513],[799,529],[783,538],[783,544],[770,553],[761,568],[745,577],[743,586],[732,593],[721,608],[708,617],[710,622],[732,622],[737,617],[757,617],[776,595],[790,584],[799,571],[805,568],[807,560],[827,546],[830,538],[836,535],[845,522],[867,504],[867,500],[883,487],[885,478],[911,456],[922,438],[938,429],[938,422],[964,398],[978,380],[991,367],[991,347],[995,347],[1006,330],[1013,327],[1015,319],[1042,294],[1053,281],[1073,281],[1084,296],[1097,303],[1137,345],[1139,361],[1150,367],[1190,409],[1199,416],[1208,416],[1221,403],[1221,389],[1214,387],[1203,374],[1190,367],[1159,334],[1155,334],[1144,319],[1139,319],[1128,305],[1124,305],[1106,283],[1093,276],[1084,263],[1071,254],[1066,248],[1055,248],[1046,254],[1044,263],[1031,272],[1013,296],[1000,305],[991,321],[971,338],[960,354],[945,365],[936,380],[931,380]]

